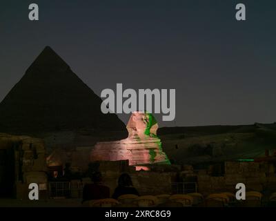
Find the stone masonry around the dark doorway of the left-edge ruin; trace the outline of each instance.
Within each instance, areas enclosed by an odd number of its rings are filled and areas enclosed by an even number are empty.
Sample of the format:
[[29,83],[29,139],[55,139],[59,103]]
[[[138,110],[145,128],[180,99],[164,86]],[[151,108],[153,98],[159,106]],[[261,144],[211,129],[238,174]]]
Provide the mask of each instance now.
[[33,137],[0,134],[0,149],[12,151],[14,161],[14,196],[26,198],[28,184],[47,183],[46,149]]

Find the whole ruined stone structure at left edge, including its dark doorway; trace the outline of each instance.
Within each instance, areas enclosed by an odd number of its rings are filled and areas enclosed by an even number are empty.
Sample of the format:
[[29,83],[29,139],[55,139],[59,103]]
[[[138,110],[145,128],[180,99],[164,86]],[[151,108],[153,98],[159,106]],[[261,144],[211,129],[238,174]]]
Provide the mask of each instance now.
[[28,184],[46,190],[48,177],[43,140],[0,133],[0,198],[28,198]]

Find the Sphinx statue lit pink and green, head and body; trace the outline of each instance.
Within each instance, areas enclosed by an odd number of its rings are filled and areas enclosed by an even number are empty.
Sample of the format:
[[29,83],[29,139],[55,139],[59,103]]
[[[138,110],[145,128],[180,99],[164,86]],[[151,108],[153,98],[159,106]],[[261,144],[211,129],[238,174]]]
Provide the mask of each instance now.
[[170,164],[157,137],[158,124],[150,113],[134,112],[126,126],[128,138],[115,142],[98,142],[91,161],[129,160],[130,165]]

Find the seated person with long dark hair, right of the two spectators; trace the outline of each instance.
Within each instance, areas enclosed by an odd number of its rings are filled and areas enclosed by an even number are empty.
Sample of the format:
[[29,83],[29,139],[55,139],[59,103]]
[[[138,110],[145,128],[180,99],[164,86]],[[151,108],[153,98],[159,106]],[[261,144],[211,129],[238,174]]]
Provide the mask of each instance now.
[[120,195],[124,194],[139,195],[138,191],[133,186],[131,177],[130,175],[128,175],[128,173],[123,173],[119,177],[118,186],[116,187],[112,195],[112,198],[117,200],[117,198],[119,198]]

